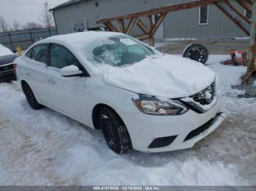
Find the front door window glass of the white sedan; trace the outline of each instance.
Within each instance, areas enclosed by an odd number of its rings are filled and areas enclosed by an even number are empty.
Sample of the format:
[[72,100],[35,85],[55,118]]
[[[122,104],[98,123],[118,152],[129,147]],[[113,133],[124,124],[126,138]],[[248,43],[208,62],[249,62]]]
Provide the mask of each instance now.
[[57,69],[62,69],[65,66],[71,65],[78,66],[79,68],[77,58],[75,58],[67,48],[57,44],[51,44],[50,46],[50,64],[52,67]]

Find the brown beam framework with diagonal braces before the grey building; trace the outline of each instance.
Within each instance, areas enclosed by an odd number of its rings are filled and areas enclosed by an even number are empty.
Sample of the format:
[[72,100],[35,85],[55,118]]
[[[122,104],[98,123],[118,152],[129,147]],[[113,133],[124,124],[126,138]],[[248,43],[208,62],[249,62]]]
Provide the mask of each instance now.
[[[234,6],[236,3],[238,6]],[[138,26],[143,34],[134,36],[140,40],[148,40],[151,46],[154,46],[154,34],[162,24],[166,15],[169,12],[176,12],[185,9],[193,9],[205,5],[214,4],[220,11],[222,11],[230,20],[236,24],[242,31],[250,36],[247,72],[243,76],[243,83],[246,82],[255,72],[255,57],[256,57],[256,0],[197,0],[185,4],[167,5],[157,9],[151,9],[144,12],[136,12],[129,15],[119,17],[112,17],[97,21],[108,28],[109,31],[121,32],[132,35],[135,26]],[[242,14],[237,7],[246,9],[247,12],[252,13],[252,19],[249,20]],[[153,16],[158,15],[158,19],[154,22]]]

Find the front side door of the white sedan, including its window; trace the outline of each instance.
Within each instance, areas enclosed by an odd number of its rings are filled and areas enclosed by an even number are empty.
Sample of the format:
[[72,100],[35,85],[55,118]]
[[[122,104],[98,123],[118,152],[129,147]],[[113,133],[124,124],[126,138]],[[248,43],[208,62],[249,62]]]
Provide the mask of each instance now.
[[78,66],[83,72],[85,69],[66,47],[50,44],[49,53],[47,83],[50,106],[75,120],[86,122],[86,77],[62,77],[59,73],[60,69],[71,65]]

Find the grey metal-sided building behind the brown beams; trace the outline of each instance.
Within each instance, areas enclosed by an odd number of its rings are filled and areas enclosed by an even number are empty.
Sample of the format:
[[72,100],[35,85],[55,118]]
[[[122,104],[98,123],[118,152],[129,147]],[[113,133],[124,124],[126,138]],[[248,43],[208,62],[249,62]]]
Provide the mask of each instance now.
[[[127,15],[134,12],[182,4],[195,0],[72,0],[60,4],[53,12],[59,34],[99,27],[97,20]],[[236,3],[234,3],[236,6]],[[250,17],[244,9],[240,11]],[[157,15],[154,16],[157,19]],[[135,29],[138,32],[138,28]],[[214,5],[170,12],[157,31],[155,38],[233,38],[246,36],[238,26]]]

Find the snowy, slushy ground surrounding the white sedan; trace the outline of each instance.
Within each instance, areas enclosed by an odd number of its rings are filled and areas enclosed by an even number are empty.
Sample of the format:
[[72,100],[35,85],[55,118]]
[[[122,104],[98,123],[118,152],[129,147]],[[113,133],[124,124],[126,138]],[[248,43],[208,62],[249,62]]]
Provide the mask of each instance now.
[[230,88],[246,68],[220,65],[225,58],[211,56],[208,64],[219,74],[227,120],[194,148],[176,152],[116,155],[100,130],[51,109],[34,111],[16,82],[0,84],[0,184],[256,184],[255,99]]

